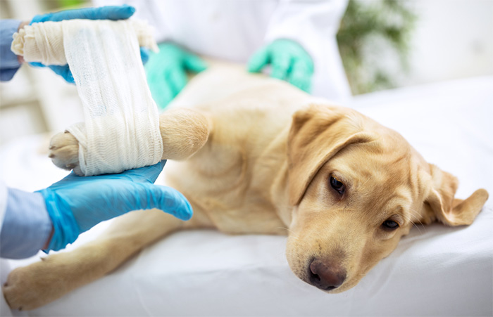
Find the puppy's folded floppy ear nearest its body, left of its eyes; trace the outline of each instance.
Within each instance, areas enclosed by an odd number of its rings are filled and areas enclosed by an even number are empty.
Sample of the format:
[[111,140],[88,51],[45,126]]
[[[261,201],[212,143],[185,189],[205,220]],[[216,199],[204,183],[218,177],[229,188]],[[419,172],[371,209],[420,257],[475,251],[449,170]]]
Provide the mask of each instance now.
[[289,203],[298,205],[318,169],[349,144],[372,141],[362,115],[342,107],[309,105],[294,113],[287,144]]

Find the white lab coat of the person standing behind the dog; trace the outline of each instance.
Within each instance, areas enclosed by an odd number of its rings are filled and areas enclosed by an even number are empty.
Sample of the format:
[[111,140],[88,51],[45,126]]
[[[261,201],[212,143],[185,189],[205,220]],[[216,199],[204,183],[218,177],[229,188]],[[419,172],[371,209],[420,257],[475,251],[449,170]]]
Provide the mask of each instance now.
[[347,0],[93,0],[130,4],[135,18],[199,55],[246,63],[263,45],[292,39],[313,58],[312,94],[344,101],[351,92],[335,34]]

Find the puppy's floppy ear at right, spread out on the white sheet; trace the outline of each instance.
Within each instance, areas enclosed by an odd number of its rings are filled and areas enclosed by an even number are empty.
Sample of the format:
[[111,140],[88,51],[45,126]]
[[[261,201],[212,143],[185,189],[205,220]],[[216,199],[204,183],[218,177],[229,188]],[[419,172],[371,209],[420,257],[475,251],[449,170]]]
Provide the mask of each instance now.
[[424,205],[428,215],[449,226],[472,224],[488,199],[487,191],[478,189],[466,200],[457,199],[454,198],[458,186],[455,176],[433,164],[430,164],[430,174],[431,184]]

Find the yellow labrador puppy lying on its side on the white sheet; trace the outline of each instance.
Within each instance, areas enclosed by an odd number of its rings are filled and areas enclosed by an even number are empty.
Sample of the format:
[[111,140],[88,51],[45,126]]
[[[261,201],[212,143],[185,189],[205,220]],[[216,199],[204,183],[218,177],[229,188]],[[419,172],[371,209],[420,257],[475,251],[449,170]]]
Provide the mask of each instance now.
[[[428,164],[397,132],[285,82],[211,67],[160,121],[168,185],[194,208],[182,222],[158,210],[113,221],[99,240],[8,276],[13,309],[35,309],[116,269],[177,230],[288,235],[287,260],[325,292],[354,287],[413,224],[473,222],[486,190],[454,198],[457,179]],[[78,170],[77,141],[52,140],[51,157]]]

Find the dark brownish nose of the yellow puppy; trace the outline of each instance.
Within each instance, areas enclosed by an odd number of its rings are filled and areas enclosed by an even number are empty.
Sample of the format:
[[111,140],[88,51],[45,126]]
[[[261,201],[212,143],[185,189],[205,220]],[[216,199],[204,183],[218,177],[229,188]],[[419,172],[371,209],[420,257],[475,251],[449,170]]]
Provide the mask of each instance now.
[[314,259],[309,268],[310,283],[320,290],[334,290],[344,283],[346,270],[342,267],[330,264],[329,261]]

